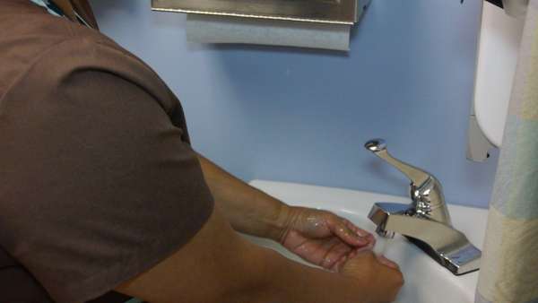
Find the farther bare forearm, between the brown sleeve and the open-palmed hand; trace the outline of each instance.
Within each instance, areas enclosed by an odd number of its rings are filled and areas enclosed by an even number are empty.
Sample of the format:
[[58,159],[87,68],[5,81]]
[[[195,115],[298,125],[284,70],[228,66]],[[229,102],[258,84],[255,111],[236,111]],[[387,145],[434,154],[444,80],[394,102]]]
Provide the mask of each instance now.
[[250,235],[273,238],[282,237],[288,206],[247,185],[230,173],[198,154],[215,205],[221,209],[233,229]]

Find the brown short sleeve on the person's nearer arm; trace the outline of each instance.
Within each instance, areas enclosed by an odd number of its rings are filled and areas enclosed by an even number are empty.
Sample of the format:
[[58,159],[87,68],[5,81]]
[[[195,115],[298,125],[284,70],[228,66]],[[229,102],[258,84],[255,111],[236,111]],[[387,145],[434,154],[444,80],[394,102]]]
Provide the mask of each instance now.
[[173,254],[213,211],[178,100],[134,56],[68,40],[0,104],[0,244],[58,303]]

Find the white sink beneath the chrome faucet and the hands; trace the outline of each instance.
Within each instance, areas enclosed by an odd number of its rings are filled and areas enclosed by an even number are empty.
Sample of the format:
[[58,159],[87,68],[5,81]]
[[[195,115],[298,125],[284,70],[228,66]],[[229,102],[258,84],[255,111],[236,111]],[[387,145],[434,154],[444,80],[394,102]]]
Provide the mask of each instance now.
[[[254,180],[250,185],[291,205],[334,212],[372,233],[375,230],[375,225],[368,220],[367,215],[373,203],[410,203],[410,199],[403,196],[381,195],[323,186],[262,180]],[[475,247],[482,249],[488,217],[487,210],[451,204],[448,205],[448,210],[454,227],[464,232]],[[307,264],[272,240],[246,235],[244,237],[257,245],[269,247],[292,260]],[[404,273],[405,284],[395,302],[474,302],[474,291],[479,272],[456,276],[400,235],[388,240],[385,255],[399,264],[402,273]]]

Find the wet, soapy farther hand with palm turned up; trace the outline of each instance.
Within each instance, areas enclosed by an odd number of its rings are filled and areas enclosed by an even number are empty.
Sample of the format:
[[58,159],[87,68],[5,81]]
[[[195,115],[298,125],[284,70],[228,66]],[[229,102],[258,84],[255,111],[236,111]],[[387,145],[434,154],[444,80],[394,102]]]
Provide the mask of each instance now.
[[332,212],[288,207],[280,243],[312,264],[338,271],[337,264],[357,249],[373,247],[375,238]]

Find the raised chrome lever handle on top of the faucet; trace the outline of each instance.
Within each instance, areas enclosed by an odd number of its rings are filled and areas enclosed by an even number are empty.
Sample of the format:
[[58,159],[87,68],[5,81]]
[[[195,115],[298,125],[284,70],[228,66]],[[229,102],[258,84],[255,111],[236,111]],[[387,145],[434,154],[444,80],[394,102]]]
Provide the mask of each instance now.
[[421,186],[424,182],[428,181],[430,177],[433,177],[428,172],[391,156],[386,150],[386,142],[383,139],[370,140],[364,144],[364,147],[370,152],[373,152],[377,157],[386,160],[386,162],[403,172],[405,176],[411,179],[415,186]]

